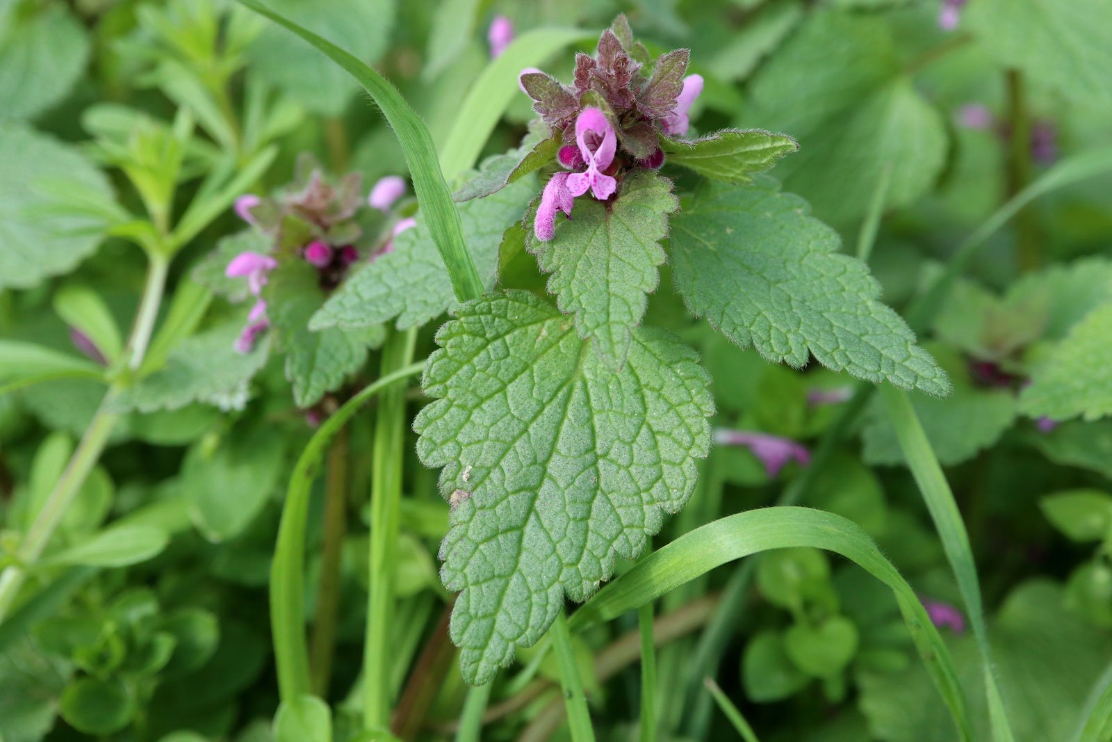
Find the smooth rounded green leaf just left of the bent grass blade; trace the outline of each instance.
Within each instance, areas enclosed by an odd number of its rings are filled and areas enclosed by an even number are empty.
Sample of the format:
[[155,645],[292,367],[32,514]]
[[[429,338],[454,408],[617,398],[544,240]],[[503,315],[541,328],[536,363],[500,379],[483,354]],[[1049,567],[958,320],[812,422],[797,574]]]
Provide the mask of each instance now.
[[251,523],[278,485],[285,453],[282,437],[264,425],[219,442],[201,439],[189,449],[181,486],[206,538],[227,541]]

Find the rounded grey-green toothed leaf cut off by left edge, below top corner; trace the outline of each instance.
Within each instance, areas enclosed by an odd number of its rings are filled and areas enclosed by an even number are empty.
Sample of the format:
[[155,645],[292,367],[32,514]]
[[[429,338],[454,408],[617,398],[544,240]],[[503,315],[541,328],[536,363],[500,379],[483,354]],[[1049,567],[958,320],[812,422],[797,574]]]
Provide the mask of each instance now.
[[105,221],[60,205],[47,188],[64,179],[101,194],[108,179],[68,145],[0,123],[0,288],[30,288],[72,270],[100,244]]

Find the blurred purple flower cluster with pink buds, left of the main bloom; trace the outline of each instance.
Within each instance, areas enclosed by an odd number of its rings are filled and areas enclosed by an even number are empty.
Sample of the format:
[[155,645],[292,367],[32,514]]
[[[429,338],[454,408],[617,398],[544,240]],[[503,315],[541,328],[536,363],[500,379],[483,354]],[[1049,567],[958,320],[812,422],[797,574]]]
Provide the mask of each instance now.
[[[300,165],[300,169],[307,168]],[[316,268],[320,287],[327,291],[336,288],[361,257],[355,245],[363,233],[356,219],[364,204],[359,176],[348,176],[334,187],[318,168],[312,168],[304,184],[295,191],[275,198],[245,194],[236,200],[236,214],[270,237],[272,244],[269,254],[241,253],[225,269],[228,277],[246,278],[248,290],[255,297],[247,325],[236,340],[239,353],[250,353],[270,326],[262,288],[270,271],[278,267],[279,259],[290,256]],[[375,184],[366,204],[388,215],[405,192],[406,181],[388,176]],[[369,251],[368,257],[374,259],[390,251],[393,238],[413,226],[413,219],[399,220],[390,238],[378,249]]]

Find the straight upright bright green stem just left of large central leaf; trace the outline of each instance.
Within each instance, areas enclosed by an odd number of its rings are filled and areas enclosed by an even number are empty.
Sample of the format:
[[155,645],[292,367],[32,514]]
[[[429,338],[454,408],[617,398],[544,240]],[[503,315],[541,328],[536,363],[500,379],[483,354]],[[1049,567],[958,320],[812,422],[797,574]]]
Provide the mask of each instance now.
[[[413,362],[417,333],[391,333],[383,347],[381,375]],[[394,555],[398,542],[398,503],[405,453],[406,395],[403,388],[383,393],[371,445],[370,596],[364,655],[364,726],[385,732],[390,723],[390,619],[394,614]]]

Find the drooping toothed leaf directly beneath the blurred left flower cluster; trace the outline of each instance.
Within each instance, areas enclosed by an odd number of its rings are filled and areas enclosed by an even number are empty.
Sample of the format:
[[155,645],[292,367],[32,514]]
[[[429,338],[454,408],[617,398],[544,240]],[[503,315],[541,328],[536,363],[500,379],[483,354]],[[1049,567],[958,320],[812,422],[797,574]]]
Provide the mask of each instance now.
[[305,261],[286,263],[272,271],[264,296],[267,316],[286,352],[286,378],[294,386],[298,407],[311,407],[339,388],[363,368],[368,348],[381,345],[386,337],[381,325],[310,330],[309,318],[320,308],[325,293],[316,268]]

